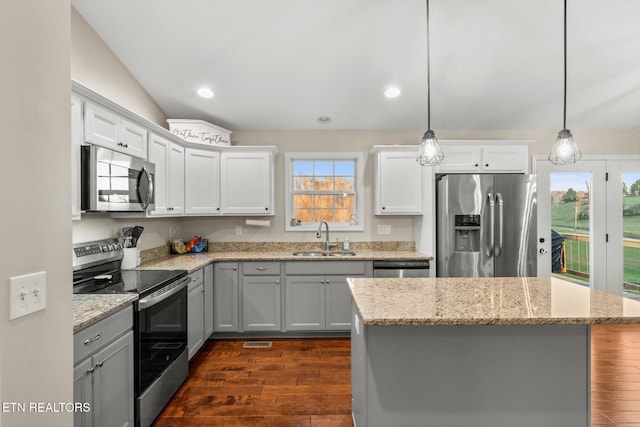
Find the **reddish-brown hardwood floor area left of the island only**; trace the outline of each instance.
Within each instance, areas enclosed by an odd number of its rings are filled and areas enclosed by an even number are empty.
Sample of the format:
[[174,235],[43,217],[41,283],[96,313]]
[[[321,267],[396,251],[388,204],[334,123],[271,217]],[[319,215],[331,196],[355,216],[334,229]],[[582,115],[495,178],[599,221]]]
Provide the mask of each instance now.
[[351,427],[349,339],[209,341],[154,427]]

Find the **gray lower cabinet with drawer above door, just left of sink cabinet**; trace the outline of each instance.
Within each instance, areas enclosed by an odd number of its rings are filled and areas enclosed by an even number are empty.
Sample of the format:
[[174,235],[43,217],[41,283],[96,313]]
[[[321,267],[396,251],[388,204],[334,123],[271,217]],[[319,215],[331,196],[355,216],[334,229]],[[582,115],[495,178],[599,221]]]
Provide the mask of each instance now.
[[280,331],[282,287],[279,262],[242,263],[242,329]]

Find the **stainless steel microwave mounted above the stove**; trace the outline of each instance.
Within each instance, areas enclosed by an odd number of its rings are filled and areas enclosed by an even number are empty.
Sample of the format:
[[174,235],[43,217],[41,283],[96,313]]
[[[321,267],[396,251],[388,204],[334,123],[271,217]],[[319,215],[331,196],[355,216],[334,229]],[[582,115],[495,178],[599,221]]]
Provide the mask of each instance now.
[[155,208],[153,163],[99,147],[81,147],[81,208],[144,212]]

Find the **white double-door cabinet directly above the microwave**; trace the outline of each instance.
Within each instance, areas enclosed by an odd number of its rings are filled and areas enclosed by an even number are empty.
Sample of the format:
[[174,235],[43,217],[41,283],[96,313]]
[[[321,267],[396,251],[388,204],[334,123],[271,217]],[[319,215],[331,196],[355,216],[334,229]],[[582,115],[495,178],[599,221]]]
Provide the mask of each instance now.
[[84,140],[131,156],[147,158],[147,130],[119,114],[85,103]]

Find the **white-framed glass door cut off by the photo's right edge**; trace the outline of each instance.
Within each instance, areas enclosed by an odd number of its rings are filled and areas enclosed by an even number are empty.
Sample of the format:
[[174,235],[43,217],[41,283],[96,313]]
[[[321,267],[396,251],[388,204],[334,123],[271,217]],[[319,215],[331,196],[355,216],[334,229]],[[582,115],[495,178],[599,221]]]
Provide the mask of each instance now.
[[609,292],[640,299],[640,161],[608,166]]

